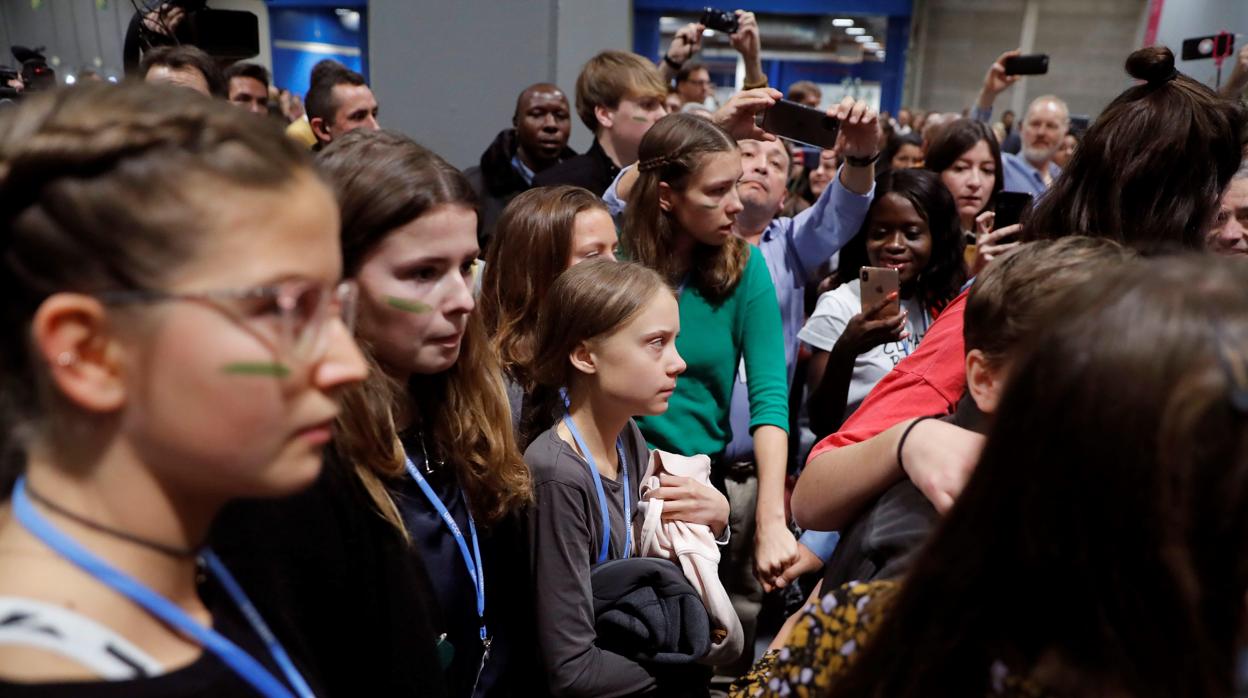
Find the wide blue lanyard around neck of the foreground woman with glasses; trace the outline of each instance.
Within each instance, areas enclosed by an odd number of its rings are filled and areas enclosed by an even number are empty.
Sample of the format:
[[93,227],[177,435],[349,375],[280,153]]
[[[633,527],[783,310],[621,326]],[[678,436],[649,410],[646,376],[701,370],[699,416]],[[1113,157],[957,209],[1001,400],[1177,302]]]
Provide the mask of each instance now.
[[247,622],[251,623],[256,634],[258,634],[265,642],[265,646],[268,648],[270,654],[272,654],[273,661],[282,669],[282,673],[286,674],[286,679],[295,688],[295,693],[291,693],[291,691],[272,673],[270,673],[263,664],[257,662],[255,657],[247,654],[246,651],[227,639],[225,636],[198,623],[185,611],[177,607],[177,604],[147,588],[134,577],[130,577],[125,572],[91,554],[86,548],[77,544],[72,538],[57,529],[50,521],[35,509],[34,504],[30,503],[30,497],[26,494],[25,477],[17,478],[17,484],[14,487],[12,513],[17,519],[17,523],[26,528],[26,531],[29,531],[32,536],[42,541],[45,546],[81,568],[87,574],[95,577],[100,583],[125,596],[160,621],[167,623],[176,631],[197,642],[205,649],[216,654],[222,663],[233,669],[238,677],[250,683],[260,694],[266,698],[293,698],[296,694],[301,698],[312,698],[312,689],[308,688],[307,682],[303,681],[303,676],[300,674],[297,668],[295,668],[295,663],[291,662],[291,658],[286,654],[282,644],[273,636],[272,631],[268,629],[268,626],[265,624],[263,618],[260,617],[260,612],[256,611],[251,599],[248,599],[247,594],[243,593],[242,587],[238,586],[238,582],[235,581],[233,576],[230,574],[230,571],[226,569],[226,566],[212,551],[203,551],[203,554],[201,556],[203,562],[208,566],[212,574],[216,576],[217,581],[221,582],[221,586],[233,599],[238,609],[242,611],[242,614],[247,618]]

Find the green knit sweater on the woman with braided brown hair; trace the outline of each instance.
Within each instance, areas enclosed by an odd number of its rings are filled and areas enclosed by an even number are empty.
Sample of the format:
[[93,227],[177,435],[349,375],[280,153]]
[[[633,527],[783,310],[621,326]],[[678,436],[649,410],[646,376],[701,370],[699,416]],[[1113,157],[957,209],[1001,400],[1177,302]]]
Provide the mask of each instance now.
[[733,438],[729,407],[741,357],[750,388],[750,431],[774,425],[789,431],[784,332],[775,286],[754,247],[733,295],[719,305],[689,286],[680,295],[676,350],[689,368],[676,378],[668,411],[638,417],[653,448],[713,458]]

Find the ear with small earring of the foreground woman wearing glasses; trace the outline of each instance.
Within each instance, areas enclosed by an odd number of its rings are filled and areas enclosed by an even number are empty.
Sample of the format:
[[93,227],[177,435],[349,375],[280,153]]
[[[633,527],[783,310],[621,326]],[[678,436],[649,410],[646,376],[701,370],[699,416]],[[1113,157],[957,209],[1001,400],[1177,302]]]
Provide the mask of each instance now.
[[107,311],[81,293],[54,293],[31,321],[35,351],[51,385],[87,412],[114,412],[126,402],[121,346],[109,332]]

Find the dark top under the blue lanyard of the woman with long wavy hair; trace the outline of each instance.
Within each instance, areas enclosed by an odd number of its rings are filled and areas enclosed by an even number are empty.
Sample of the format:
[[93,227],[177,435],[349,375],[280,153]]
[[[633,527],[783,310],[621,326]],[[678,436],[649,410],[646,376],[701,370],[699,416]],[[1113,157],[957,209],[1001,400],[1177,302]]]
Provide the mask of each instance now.
[[[403,445],[412,463],[451,512],[470,553],[468,507],[454,466],[442,463],[428,468],[417,438],[404,436]],[[416,481],[404,476],[388,482],[387,487],[429,571],[433,598],[442,616],[436,629],[447,634],[454,649],[447,669],[448,694],[459,698],[532,696],[529,687],[538,681],[534,674],[537,649],[528,549],[519,517],[504,518],[489,528],[477,526],[485,569],[485,624],[490,637],[489,658],[482,664],[477,591],[458,543]]]

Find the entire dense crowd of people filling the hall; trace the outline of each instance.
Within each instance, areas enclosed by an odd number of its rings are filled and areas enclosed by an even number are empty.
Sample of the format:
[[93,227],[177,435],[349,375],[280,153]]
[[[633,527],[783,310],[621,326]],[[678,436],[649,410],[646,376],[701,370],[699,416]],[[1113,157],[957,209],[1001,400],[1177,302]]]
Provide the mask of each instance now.
[[0,110],[0,694],[1248,688],[1248,50],[815,151],[736,21],[467,171],[334,61]]

